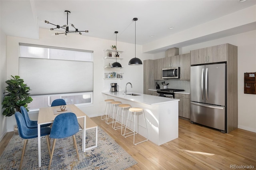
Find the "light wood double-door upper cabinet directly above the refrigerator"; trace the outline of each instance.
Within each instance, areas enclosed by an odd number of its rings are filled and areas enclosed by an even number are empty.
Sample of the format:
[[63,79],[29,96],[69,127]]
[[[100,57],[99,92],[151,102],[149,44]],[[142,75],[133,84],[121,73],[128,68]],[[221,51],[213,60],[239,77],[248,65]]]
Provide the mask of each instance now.
[[190,51],[191,65],[227,61],[227,44]]

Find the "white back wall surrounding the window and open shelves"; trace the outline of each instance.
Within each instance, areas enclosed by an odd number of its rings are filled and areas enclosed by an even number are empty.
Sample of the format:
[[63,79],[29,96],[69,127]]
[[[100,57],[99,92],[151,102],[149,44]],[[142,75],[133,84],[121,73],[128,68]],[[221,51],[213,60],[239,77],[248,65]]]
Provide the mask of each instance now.
[[[7,79],[10,75],[18,75],[18,56],[19,56],[19,43],[30,43],[38,45],[48,45],[53,47],[66,47],[73,49],[84,49],[94,51],[94,101],[93,106],[80,108],[89,117],[96,117],[101,115],[102,108],[104,108],[105,95],[102,95],[102,91],[107,91],[110,83],[118,83],[120,90],[123,90],[127,82],[131,82],[133,89],[128,91],[133,91],[137,93],[143,93],[143,65],[132,66],[128,65],[131,58],[134,57],[135,48],[134,44],[118,42],[117,47],[119,50],[124,51],[120,54],[120,57],[124,59],[120,61],[122,67],[124,67],[121,72],[124,73],[124,79],[113,82],[112,80],[103,79],[103,57],[104,49],[111,49],[111,45],[116,44],[115,35],[113,32],[113,40],[103,40],[99,38],[92,38],[87,36],[80,36],[76,34],[68,34],[67,37],[64,35],[52,36],[53,32],[49,32],[45,29],[40,29],[39,40],[19,38],[7,36]],[[112,54],[113,55],[113,54]],[[140,58],[142,61],[144,59],[152,58],[152,54],[143,54],[142,46],[136,45],[136,57]],[[113,70],[114,71],[114,70]],[[38,74],[40,75],[40,73]],[[21,77],[22,78],[22,77]],[[84,77],[86,78],[86,77]],[[26,80],[24,80],[26,83]],[[28,85],[29,86],[29,85]],[[2,90],[2,89],[1,89]],[[33,116],[35,117],[35,116]],[[14,117],[8,117],[7,119],[7,129],[11,131],[15,125]]]

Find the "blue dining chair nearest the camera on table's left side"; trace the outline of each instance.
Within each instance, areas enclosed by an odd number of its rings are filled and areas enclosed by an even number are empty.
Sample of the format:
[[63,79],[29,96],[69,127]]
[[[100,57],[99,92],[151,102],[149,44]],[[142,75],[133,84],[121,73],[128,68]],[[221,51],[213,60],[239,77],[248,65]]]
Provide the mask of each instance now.
[[[16,119],[17,126],[18,126],[19,136],[21,138],[25,139],[24,146],[23,146],[23,149],[22,149],[21,160],[20,160],[20,170],[21,170],[22,161],[23,161],[25,150],[26,150],[26,145],[28,143],[28,139],[37,138],[38,134],[37,134],[37,128],[28,128],[26,126],[25,120],[24,120],[24,118],[23,118],[23,116],[20,112],[15,113],[15,119]],[[50,154],[50,138],[49,138],[50,132],[51,132],[51,128],[42,127],[41,128],[41,134],[40,134],[40,136],[46,136],[46,141],[47,141],[49,154]]]

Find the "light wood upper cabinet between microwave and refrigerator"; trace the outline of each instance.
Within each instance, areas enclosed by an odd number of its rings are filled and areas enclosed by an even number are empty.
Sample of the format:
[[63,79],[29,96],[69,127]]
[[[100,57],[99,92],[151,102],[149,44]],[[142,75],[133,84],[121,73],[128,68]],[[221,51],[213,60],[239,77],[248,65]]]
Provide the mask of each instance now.
[[190,80],[190,53],[180,55],[180,80]]

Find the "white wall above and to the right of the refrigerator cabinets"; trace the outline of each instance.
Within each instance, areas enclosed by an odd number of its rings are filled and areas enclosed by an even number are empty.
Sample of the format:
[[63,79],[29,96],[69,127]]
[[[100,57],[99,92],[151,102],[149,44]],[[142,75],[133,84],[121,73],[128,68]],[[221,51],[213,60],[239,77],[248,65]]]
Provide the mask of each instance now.
[[[180,47],[179,53],[224,43],[238,46],[238,128],[256,132],[256,95],[244,94],[244,73],[256,72],[256,30]],[[155,54],[154,59],[161,56],[163,53]]]

